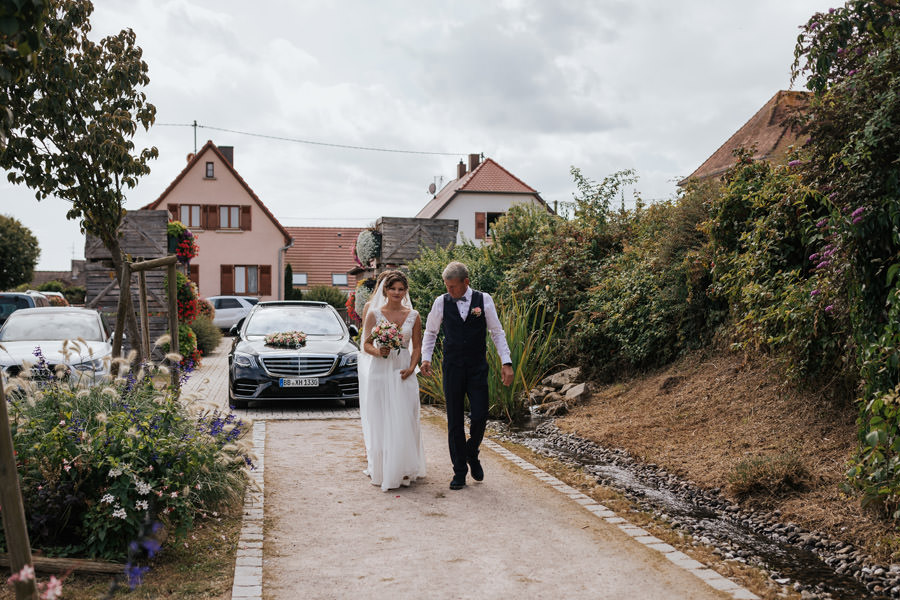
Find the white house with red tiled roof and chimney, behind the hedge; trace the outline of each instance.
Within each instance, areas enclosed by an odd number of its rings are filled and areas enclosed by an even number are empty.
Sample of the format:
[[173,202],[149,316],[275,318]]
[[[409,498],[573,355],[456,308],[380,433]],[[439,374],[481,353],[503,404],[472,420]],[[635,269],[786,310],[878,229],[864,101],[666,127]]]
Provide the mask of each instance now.
[[456,166],[456,179],[445,185],[416,218],[456,219],[459,222],[457,241],[468,240],[481,245],[490,242],[494,221],[506,214],[513,204],[524,202],[552,212],[537,190],[493,159],[481,162],[480,155],[470,154],[468,170],[460,160]]

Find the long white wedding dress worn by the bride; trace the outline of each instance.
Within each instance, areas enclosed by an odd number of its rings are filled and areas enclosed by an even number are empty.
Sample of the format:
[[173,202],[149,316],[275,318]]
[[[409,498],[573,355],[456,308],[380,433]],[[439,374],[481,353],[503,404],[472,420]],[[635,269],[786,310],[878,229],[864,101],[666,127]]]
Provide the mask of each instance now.
[[[385,321],[380,307],[369,313],[375,323]],[[410,310],[401,324],[403,347],[391,350],[387,358],[369,355],[360,370],[361,411],[368,455],[369,477],[382,490],[409,485],[425,477],[425,449],[419,428],[419,381],[415,375],[400,378],[409,368],[409,342],[418,313]]]

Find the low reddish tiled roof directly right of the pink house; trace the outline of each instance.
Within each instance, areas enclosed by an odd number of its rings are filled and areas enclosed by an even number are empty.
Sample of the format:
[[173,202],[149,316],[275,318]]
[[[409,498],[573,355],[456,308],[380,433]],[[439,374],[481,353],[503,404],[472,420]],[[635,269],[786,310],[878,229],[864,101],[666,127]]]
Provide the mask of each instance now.
[[[356,237],[362,227],[288,227],[294,245],[287,249],[285,264],[294,273],[306,273],[307,285],[331,285],[332,273],[347,273],[357,266],[353,260]],[[349,287],[356,285],[348,276]]]

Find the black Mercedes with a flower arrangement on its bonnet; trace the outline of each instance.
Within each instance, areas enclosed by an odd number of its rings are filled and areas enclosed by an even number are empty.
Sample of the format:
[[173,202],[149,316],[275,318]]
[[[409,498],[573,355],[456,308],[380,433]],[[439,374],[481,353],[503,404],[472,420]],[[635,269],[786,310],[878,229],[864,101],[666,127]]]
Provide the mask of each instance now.
[[[299,349],[266,344],[271,333],[302,331]],[[252,400],[340,399],[359,405],[359,347],[333,306],[325,302],[261,302],[234,328],[228,354],[228,397],[245,408]]]

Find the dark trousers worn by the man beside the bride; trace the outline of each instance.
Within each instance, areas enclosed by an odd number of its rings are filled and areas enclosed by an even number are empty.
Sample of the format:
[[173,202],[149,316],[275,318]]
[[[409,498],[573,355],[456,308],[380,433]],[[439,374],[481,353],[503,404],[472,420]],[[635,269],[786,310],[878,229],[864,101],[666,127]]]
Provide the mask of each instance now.
[[[466,476],[468,461],[478,458],[488,415],[488,366],[443,364],[447,402],[447,441],[453,472]],[[465,398],[469,397],[469,440],[466,441]]]

